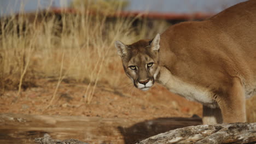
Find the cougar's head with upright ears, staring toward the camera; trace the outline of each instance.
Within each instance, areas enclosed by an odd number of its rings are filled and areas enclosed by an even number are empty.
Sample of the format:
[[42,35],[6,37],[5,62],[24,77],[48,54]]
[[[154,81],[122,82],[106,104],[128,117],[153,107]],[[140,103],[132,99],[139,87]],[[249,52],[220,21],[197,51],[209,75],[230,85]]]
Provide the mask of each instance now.
[[154,85],[159,73],[159,42],[159,34],[153,40],[139,40],[131,45],[115,41],[126,75],[135,87],[143,91]]

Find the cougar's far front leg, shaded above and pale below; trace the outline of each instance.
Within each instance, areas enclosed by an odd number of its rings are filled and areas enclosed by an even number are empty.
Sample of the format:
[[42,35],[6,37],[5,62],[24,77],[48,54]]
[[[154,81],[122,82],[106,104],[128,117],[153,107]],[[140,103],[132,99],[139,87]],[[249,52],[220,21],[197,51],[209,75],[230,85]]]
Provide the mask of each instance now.
[[223,123],[222,112],[219,107],[211,108],[203,105],[203,124]]

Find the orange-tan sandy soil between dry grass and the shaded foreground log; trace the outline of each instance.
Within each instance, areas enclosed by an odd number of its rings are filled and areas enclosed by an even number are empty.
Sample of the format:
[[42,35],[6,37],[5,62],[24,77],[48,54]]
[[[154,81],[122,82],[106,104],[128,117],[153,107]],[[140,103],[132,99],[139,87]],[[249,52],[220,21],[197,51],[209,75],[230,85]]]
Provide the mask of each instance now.
[[133,86],[113,89],[99,84],[90,104],[85,103],[84,93],[88,85],[63,81],[56,97],[53,97],[57,80],[40,79],[37,87],[22,91],[7,91],[0,97],[1,113],[24,113],[31,115],[87,116],[102,118],[144,118],[201,116],[202,106],[188,101],[156,85],[147,92]]

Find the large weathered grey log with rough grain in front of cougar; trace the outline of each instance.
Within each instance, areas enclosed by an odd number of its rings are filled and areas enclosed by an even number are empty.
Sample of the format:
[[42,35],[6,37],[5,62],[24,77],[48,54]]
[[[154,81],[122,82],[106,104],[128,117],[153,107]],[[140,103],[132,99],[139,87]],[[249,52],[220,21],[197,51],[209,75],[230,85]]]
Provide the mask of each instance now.
[[137,144],[256,143],[256,123],[197,125],[158,134]]

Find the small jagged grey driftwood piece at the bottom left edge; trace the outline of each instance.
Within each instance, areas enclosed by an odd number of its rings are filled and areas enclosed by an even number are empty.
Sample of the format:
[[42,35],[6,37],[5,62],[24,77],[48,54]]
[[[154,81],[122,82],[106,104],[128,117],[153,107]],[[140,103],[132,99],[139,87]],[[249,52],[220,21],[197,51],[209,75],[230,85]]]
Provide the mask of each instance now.
[[34,139],[34,142],[40,144],[88,144],[79,140],[69,139],[69,140],[53,140],[49,134],[44,134],[44,137],[39,137]]

